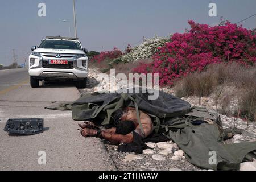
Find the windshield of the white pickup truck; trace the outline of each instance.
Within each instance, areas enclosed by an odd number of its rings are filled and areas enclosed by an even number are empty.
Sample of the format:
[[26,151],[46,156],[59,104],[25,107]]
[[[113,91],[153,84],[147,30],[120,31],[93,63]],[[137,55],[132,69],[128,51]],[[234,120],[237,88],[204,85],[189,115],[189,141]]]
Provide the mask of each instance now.
[[79,42],[68,40],[44,40],[38,48],[81,50]]

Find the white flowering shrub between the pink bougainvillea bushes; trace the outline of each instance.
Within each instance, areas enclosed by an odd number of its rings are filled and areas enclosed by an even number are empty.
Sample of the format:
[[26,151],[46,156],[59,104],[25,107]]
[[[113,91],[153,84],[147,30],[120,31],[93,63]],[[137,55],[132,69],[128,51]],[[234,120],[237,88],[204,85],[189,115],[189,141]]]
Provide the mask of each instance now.
[[141,45],[134,47],[130,53],[122,56],[122,61],[127,63],[131,61],[136,61],[138,59],[148,59],[151,58],[154,53],[158,50],[158,47],[163,46],[168,42],[170,38],[160,38],[155,37],[151,39],[146,39]]

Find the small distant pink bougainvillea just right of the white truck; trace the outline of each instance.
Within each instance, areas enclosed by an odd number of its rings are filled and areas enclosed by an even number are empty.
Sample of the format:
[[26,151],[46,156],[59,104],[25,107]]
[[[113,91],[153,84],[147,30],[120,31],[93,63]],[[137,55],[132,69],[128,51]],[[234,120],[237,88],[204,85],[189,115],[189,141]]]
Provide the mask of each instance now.
[[117,47],[114,47],[112,51],[103,51],[100,53],[100,55],[92,57],[91,61],[101,63],[102,61],[116,59],[121,56],[122,51],[120,51]]

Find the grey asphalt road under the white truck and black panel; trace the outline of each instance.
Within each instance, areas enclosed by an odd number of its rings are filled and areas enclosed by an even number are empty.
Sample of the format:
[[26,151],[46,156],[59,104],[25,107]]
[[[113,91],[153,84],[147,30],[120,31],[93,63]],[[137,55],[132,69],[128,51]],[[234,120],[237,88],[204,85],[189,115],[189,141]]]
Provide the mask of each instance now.
[[[31,88],[27,69],[0,71],[0,170],[115,170],[102,141],[80,135],[71,111],[44,109],[79,97],[73,84]],[[9,118],[43,118],[44,132],[10,135],[2,130]],[[40,151],[46,165],[38,163]]]

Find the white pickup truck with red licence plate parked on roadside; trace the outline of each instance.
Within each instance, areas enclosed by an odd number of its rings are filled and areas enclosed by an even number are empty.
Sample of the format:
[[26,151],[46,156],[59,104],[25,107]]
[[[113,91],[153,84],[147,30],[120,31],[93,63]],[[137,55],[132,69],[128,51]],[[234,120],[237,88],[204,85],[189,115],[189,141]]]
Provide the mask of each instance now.
[[29,56],[30,85],[39,81],[75,81],[77,88],[85,88],[88,77],[88,53],[77,38],[46,37]]

